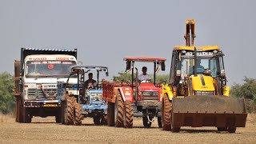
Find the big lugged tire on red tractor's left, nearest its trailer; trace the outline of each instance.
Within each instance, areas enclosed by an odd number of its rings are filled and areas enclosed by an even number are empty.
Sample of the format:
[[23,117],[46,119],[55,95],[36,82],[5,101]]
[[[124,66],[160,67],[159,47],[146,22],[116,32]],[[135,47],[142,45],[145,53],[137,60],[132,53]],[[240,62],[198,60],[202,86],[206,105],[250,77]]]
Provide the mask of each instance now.
[[114,126],[123,127],[124,104],[121,95],[118,94],[114,103]]

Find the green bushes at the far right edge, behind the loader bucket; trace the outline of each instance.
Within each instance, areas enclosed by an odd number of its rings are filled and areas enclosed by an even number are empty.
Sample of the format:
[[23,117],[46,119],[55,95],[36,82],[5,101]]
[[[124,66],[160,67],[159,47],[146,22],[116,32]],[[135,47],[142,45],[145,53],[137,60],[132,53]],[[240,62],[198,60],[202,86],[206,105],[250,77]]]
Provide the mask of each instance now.
[[256,79],[244,78],[243,84],[235,83],[231,86],[230,95],[246,99],[246,109],[249,113],[256,112]]

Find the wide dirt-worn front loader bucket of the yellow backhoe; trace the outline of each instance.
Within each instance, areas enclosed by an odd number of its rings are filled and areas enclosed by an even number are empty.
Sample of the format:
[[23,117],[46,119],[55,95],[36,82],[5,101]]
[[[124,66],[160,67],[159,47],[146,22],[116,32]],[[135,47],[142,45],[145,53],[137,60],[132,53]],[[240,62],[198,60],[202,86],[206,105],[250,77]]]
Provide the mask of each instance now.
[[173,127],[245,127],[246,117],[246,106],[243,99],[223,95],[173,98]]

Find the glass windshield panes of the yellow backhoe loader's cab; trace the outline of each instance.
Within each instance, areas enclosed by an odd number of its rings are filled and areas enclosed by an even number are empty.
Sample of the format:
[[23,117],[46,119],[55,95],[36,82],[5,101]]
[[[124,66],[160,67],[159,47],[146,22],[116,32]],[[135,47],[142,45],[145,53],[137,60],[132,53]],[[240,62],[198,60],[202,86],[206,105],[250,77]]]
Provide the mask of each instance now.
[[[220,71],[218,59],[219,59],[218,57],[205,57],[205,58],[198,57],[197,73],[202,74],[202,72],[205,69],[209,69],[211,71],[211,75],[213,77],[216,77],[218,75],[218,72]],[[194,58],[193,57],[182,58],[181,73],[182,73],[182,76],[184,77],[194,74]]]

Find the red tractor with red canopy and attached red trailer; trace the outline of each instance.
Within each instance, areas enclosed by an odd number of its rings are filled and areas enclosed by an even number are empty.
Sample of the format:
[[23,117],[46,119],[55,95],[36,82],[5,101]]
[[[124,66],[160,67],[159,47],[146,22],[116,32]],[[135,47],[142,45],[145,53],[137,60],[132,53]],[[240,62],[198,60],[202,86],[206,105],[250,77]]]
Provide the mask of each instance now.
[[[162,127],[162,87],[155,82],[155,76],[158,70],[165,70],[166,58],[128,57],[124,61],[126,70],[131,70],[130,82],[103,82],[103,98],[108,103],[108,126],[131,128],[133,118],[142,117],[144,127],[150,127],[155,118],[158,118],[158,126]],[[138,69],[134,62],[154,63],[153,82],[138,82]]]

